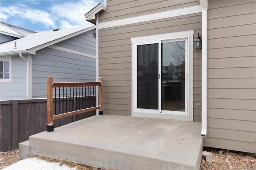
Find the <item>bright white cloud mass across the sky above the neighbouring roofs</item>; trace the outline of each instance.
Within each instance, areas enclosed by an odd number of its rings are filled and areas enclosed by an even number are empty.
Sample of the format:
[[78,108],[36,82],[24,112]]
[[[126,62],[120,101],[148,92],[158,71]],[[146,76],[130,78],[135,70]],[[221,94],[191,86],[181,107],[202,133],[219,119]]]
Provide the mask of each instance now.
[[[104,0],[56,0],[45,10],[33,9],[27,4],[38,4],[38,0],[19,1],[19,4],[12,4],[1,7],[0,20],[8,21],[11,17],[28,19],[33,24],[42,24],[45,29],[66,29],[81,25],[92,25],[84,18],[84,14]],[[26,3],[25,3],[26,2]],[[19,25],[18,25],[19,26]]]

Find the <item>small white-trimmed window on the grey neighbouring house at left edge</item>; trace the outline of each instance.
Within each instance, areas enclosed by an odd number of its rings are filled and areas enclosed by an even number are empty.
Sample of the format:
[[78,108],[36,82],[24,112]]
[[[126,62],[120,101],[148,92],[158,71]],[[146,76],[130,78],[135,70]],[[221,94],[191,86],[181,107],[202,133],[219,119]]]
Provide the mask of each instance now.
[[1,57],[0,59],[0,81],[10,82],[11,81],[11,57]]

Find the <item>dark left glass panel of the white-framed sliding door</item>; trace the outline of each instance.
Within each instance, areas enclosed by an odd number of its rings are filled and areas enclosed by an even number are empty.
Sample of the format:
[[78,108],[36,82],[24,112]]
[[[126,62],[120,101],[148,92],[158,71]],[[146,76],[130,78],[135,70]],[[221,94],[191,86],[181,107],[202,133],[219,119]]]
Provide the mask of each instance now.
[[137,108],[158,109],[159,44],[137,45]]

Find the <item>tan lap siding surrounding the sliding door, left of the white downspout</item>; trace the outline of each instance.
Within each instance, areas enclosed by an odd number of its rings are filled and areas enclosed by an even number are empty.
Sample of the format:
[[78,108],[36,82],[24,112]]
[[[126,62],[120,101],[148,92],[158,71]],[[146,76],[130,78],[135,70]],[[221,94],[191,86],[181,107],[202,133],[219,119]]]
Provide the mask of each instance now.
[[[99,23],[198,4],[200,4],[199,1],[110,0],[107,2],[106,11],[99,14]],[[147,8],[144,6],[142,8],[142,5],[146,5]],[[123,11],[128,7],[129,14],[124,15]],[[141,13],[141,10],[145,11]],[[201,21],[201,13],[196,13],[99,29],[99,76],[104,80],[104,114],[131,115],[132,45],[130,38],[195,30],[195,39],[198,32],[201,35]],[[196,106],[196,102],[201,102],[201,51],[194,50],[193,55],[194,121],[201,121],[201,107]]]

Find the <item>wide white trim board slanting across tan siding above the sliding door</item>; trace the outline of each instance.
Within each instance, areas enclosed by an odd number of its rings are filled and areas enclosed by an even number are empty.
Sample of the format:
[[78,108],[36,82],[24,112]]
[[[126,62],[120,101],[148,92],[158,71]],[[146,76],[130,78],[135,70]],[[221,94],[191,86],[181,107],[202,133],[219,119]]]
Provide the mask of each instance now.
[[157,13],[148,14],[148,15],[124,18],[124,19],[114,20],[114,21],[101,22],[101,23],[98,23],[98,29],[108,28],[108,27],[116,27],[116,26],[121,26],[121,25],[132,24],[132,23],[160,20],[160,19],[164,19],[164,18],[171,18],[171,17],[195,14],[195,13],[200,13],[200,12],[202,12],[201,5],[190,6],[190,7],[186,7],[186,8],[179,8],[179,9],[170,10],[170,11],[157,12]]

